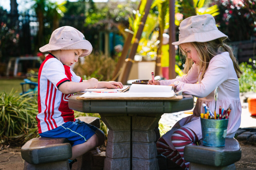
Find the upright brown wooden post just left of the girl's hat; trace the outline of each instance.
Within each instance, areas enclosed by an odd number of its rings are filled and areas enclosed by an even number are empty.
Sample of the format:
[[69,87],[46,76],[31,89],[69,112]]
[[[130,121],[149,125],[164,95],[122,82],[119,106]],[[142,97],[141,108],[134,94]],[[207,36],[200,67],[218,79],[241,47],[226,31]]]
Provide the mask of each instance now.
[[175,79],[175,48],[172,45],[175,42],[175,0],[169,0],[169,79]]

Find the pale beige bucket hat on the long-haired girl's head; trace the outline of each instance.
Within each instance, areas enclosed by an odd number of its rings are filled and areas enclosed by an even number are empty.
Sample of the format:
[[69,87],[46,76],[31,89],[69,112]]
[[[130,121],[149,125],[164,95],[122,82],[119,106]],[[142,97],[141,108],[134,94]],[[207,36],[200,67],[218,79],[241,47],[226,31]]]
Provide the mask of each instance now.
[[180,23],[179,27],[179,41],[172,43],[173,45],[191,42],[202,43],[221,37],[225,40],[228,37],[218,30],[215,19],[210,14],[188,17]]

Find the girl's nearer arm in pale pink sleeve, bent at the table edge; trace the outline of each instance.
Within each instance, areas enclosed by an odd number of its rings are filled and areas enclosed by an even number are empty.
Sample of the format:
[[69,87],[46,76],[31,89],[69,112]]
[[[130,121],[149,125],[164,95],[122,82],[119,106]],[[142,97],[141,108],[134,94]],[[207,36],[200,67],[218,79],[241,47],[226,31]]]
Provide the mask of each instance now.
[[[231,60],[229,62],[232,62]],[[184,93],[202,98],[208,96],[217,86],[228,79],[228,72],[231,63],[228,63],[224,56],[215,56],[209,63],[208,69],[204,78],[199,84],[190,84],[180,82],[177,85],[177,90],[182,89]],[[232,64],[233,66],[233,64]]]

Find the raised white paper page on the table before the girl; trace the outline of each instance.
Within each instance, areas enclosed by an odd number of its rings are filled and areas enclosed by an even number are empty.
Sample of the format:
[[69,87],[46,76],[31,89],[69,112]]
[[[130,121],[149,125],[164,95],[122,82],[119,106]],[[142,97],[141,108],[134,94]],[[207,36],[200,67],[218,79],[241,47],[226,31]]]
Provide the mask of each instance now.
[[172,92],[173,86],[158,86],[158,85],[147,85],[147,84],[132,84],[129,93],[140,92],[140,93],[161,93],[161,92]]

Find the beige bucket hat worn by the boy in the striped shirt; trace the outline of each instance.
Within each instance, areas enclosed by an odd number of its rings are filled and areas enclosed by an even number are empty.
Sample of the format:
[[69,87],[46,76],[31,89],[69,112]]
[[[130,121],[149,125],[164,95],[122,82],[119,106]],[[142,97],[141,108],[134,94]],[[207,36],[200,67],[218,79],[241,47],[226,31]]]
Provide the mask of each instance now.
[[92,45],[80,31],[70,26],[64,26],[54,30],[49,44],[39,48],[42,53],[60,49],[84,49],[85,51],[79,56],[84,57],[92,52]]

